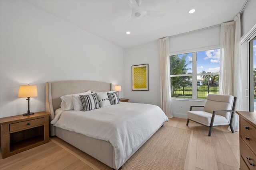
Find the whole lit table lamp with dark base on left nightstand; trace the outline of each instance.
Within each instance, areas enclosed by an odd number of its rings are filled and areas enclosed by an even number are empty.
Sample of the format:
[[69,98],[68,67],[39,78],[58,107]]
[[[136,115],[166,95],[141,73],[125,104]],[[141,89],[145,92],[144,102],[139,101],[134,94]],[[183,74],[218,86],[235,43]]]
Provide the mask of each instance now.
[[28,100],[28,113],[24,113],[23,115],[33,115],[34,112],[30,112],[29,110],[29,100],[30,100],[30,97],[37,97],[37,86],[30,86],[29,84],[20,85],[18,97],[27,98]]

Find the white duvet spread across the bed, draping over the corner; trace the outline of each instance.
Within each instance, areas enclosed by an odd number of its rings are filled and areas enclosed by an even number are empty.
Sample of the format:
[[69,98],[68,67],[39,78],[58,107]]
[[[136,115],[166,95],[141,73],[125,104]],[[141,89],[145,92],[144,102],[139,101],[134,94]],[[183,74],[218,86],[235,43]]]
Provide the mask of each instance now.
[[116,167],[168,118],[158,106],[120,102],[91,111],[56,110],[52,124],[88,137],[109,141]]

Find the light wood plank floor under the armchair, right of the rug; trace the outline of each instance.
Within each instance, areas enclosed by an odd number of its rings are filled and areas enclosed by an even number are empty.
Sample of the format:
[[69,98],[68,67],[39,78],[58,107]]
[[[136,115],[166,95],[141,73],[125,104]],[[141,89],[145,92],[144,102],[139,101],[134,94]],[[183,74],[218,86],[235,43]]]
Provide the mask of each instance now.
[[174,117],[165,125],[193,131],[188,170],[239,170],[239,133],[231,133],[227,126],[209,128],[186,119]]

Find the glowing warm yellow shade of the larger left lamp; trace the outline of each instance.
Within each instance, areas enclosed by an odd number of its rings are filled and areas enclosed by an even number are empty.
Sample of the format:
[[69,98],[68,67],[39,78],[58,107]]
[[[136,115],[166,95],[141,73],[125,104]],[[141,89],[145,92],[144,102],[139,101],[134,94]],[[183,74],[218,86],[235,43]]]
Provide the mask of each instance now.
[[37,97],[37,86],[20,85],[19,98]]

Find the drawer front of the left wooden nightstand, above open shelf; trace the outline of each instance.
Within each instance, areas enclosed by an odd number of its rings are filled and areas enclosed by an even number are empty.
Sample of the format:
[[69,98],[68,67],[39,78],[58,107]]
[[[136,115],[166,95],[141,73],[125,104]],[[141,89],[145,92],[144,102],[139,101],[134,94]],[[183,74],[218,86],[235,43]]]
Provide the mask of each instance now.
[[39,119],[32,119],[29,121],[22,121],[18,123],[10,124],[10,132],[20,131],[24,129],[29,129],[30,127],[36,127],[39,125],[44,125],[44,117]]

